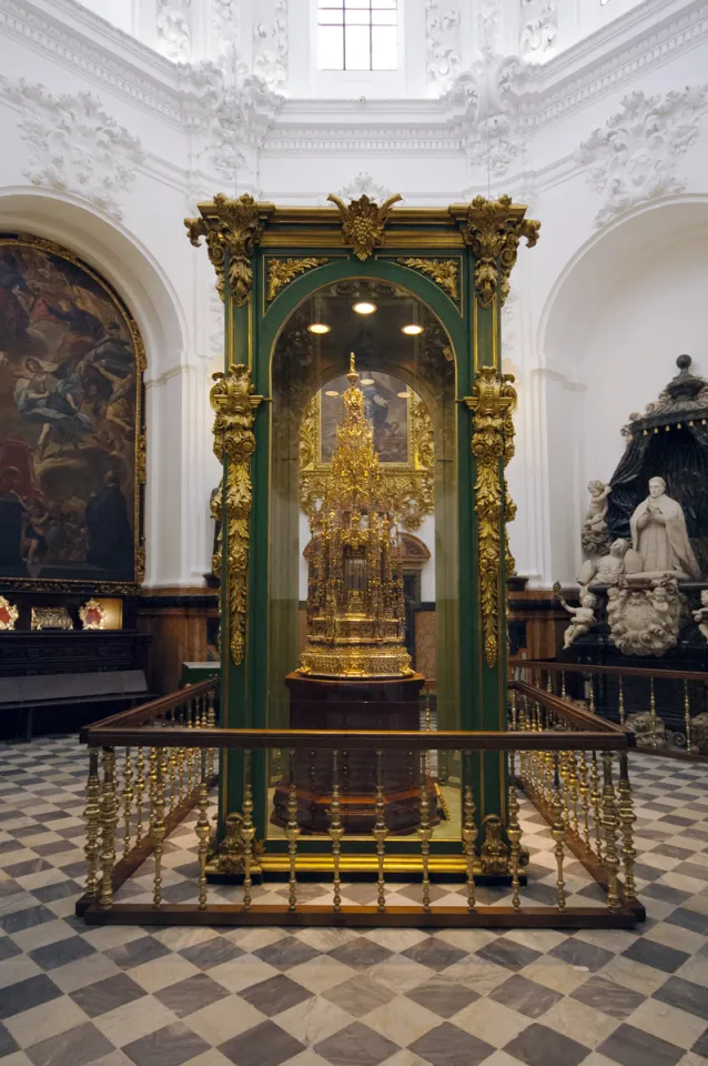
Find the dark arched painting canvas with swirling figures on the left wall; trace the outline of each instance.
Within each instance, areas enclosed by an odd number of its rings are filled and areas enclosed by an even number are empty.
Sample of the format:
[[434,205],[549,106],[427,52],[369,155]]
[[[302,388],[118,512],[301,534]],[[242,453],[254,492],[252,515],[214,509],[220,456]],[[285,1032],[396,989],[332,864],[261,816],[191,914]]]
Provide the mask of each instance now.
[[136,335],[69,252],[0,235],[0,579],[134,580]]

